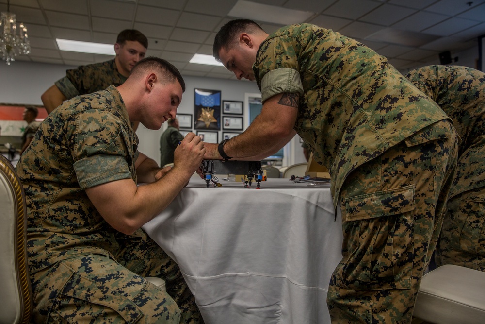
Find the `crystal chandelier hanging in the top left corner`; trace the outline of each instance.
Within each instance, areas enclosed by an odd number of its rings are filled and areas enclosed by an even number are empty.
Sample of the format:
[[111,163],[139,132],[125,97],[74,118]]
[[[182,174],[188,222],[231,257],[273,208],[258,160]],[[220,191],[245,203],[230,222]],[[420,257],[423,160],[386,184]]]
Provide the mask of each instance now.
[[7,65],[15,61],[15,56],[30,53],[27,28],[22,23],[18,27],[17,33],[17,19],[10,12],[10,0],[7,0],[7,12],[2,12],[0,16],[0,53]]

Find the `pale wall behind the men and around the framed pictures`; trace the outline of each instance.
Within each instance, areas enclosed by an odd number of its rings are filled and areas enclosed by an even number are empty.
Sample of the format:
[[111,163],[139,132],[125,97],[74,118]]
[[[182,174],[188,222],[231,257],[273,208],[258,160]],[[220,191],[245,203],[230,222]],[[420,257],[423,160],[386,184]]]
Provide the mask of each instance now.
[[[65,76],[65,70],[70,66],[43,64],[24,61],[15,61],[7,66],[0,61],[0,103],[16,104],[42,104],[40,96],[55,81]],[[245,93],[259,93],[255,82],[223,80],[213,78],[201,78],[184,76],[186,90],[177,112],[181,114],[194,114],[194,88],[221,90],[222,100],[244,101]],[[244,112],[247,116],[248,112]],[[140,152],[145,153],[155,161],[160,162],[159,139],[166,129],[163,124],[158,131],[149,130],[140,125],[137,135],[140,138]],[[222,131],[219,132],[219,140],[222,140]],[[289,164],[304,161],[303,150],[295,138],[290,143]],[[295,143],[293,143],[295,142]]]

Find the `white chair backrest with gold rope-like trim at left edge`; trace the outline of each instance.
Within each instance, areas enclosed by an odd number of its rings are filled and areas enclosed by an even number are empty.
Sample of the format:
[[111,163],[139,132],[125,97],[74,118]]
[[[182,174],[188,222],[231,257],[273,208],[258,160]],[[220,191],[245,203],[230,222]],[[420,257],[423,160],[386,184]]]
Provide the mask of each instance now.
[[0,323],[29,323],[25,195],[14,167],[0,154]]

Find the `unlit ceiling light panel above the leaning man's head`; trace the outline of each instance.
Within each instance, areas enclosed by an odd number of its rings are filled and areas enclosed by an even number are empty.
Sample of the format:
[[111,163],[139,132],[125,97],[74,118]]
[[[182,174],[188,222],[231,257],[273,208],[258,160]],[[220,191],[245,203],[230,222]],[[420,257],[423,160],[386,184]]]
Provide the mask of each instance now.
[[307,21],[316,13],[270,6],[251,1],[239,0],[229,11],[228,16],[245,18],[279,25],[292,25]]

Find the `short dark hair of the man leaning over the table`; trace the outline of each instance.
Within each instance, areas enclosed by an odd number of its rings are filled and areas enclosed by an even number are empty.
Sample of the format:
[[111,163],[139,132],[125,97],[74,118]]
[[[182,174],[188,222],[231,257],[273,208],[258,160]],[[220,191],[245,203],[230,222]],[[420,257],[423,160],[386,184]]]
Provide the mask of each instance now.
[[215,59],[221,62],[219,51],[224,48],[228,51],[238,40],[241,33],[260,33],[264,32],[261,26],[250,19],[235,19],[221,27],[215,35],[212,54]]

